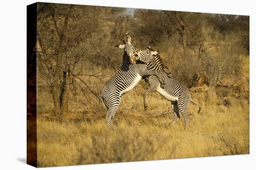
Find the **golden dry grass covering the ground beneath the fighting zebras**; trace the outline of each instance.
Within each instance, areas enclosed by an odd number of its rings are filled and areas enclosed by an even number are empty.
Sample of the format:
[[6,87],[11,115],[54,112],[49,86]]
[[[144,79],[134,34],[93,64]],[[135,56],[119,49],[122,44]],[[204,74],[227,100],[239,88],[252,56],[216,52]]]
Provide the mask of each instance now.
[[[184,130],[183,118],[174,126],[168,125],[173,119],[171,113],[157,118],[130,114],[144,113],[140,88],[142,86],[122,97],[114,132],[108,129],[104,118],[88,119],[95,113],[70,113],[58,117],[38,114],[38,166],[249,153],[247,100],[228,95],[229,103],[226,104],[213,90],[193,94],[193,99],[202,105],[202,113],[197,115],[198,107],[191,104],[190,126]],[[150,113],[160,113],[171,106],[160,94],[151,94],[148,99]],[[134,110],[129,112],[124,107],[134,107]]]

